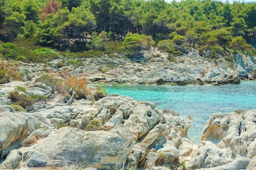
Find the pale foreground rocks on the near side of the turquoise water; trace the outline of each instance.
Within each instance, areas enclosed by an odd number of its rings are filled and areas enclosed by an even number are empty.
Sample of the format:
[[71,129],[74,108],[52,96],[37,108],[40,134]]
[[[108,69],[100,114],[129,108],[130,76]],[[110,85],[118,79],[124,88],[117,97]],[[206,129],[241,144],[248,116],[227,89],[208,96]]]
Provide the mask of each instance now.
[[[0,169],[72,163],[98,170],[256,167],[256,110],[213,114],[204,126],[201,144],[195,145],[186,137],[189,121],[126,96],[65,105],[56,95],[45,104],[34,104],[30,113],[16,112],[3,93],[17,84],[27,88],[25,82],[1,85]],[[100,129],[85,131],[95,120],[101,122]],[[59,122],[68,126],[57,129]]]

